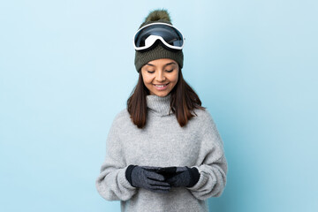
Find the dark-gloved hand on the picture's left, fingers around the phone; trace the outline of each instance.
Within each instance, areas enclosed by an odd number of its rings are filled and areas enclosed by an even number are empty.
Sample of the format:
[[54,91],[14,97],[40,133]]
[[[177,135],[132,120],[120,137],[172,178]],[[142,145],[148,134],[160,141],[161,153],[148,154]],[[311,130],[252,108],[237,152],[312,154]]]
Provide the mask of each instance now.
[[169,183],[164,182],[163,175],[146,170],[142,166],[128,166],[125,177],[132,186],[145,188],[155,193],[168,193],[171,188]]

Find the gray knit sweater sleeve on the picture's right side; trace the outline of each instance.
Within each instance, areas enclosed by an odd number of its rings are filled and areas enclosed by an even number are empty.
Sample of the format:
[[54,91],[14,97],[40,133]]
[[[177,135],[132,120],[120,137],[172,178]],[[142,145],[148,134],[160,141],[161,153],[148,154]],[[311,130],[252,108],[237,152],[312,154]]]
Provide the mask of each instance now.
[[196,185],[188,188],[199,200],[218,197],[226,184],[227,162],[223,150],[223,140],[216,129],[213,118],[209,115],[203,121],[201,149],[198,157],[200,178]]

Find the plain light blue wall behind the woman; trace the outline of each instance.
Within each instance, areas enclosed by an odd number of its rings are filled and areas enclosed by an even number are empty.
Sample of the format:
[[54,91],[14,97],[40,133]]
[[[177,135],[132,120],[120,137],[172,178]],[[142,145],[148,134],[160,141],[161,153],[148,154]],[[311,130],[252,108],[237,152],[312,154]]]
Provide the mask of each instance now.
[[95,178],[137,82],[133,34],[157,8],[225,144],[210,211],[318,211],[314,0],[2,1],[0,211],[119,211]]

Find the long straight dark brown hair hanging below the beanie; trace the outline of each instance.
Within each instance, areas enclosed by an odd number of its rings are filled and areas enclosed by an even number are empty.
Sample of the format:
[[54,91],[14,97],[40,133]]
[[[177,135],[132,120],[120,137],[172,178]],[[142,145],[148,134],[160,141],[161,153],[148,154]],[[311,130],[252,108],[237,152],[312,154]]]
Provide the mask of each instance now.
[[[183,78],[181,69],[178,72],[178,82],[170,91],[170,94],[170,109],[175,113],[178,124],[181,127],[185,126],[192,117],[196,116],[194,109],[205,110],[201,106],[199,96]],[[137,85],[133,88],[133,92],[127,100],[127,110],[133,120],[133,124],[137,125],[140,129],[146,125],[147,121],[147,95],[149,95],[149,90],[143,82],[140,71]]]

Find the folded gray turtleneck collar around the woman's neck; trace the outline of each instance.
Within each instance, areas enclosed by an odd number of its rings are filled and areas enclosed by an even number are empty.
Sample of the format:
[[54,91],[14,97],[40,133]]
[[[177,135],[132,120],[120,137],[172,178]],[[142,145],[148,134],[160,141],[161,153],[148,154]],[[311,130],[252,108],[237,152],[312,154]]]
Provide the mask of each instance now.
[[170,97],[170,94],[163,97],[147,95],[147,107],[161,117],[168,116],[172,114],[172,111],[170,111]]

